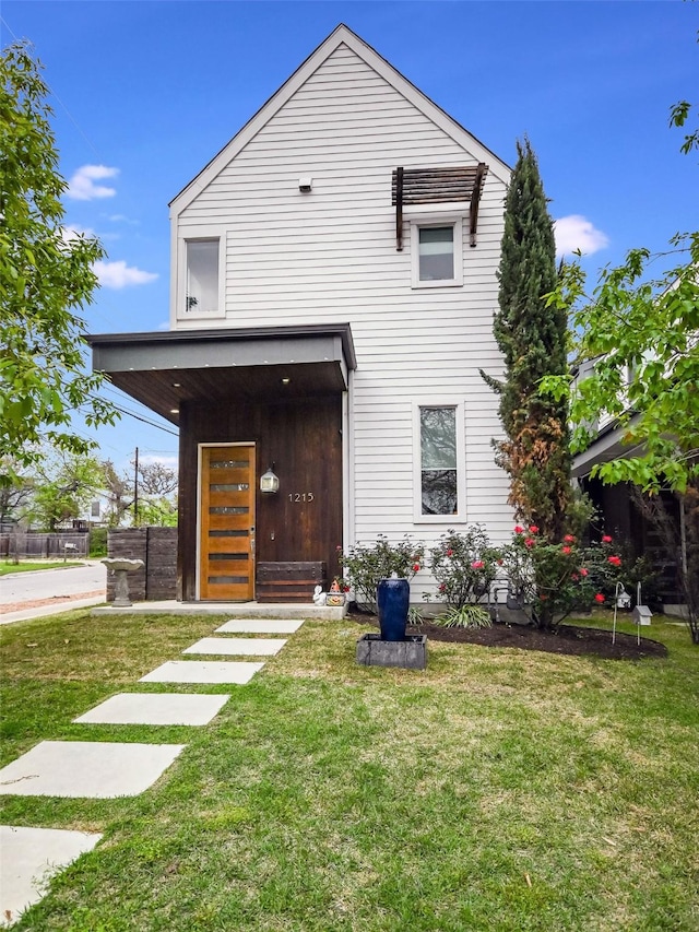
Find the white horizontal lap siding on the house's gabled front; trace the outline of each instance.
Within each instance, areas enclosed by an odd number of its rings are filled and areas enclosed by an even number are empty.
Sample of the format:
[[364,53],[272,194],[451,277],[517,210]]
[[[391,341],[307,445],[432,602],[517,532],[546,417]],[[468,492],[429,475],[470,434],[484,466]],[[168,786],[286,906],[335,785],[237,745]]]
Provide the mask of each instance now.
[[[176,240],[211,225],[226,232],[225,319],[210,325],[174,314],[175,328],[352,325],[355,541],[407,532],[429,543],[454,524],[413,519],[413,405],[435,398],[463,404],[465,521],[483,522],[494,540],[509,535],[508,483],[490,447],[500,435],[497,398],[478,373],[501,369],[491,322],[505,184],[488,173],[476,248],[462,209],[461,287],[411,287],[407,221],[416,212],[404,211],[398,252],[391,205],[399,165],[479,157],[340,45],[174,221]],[[313,179],[310,193],[298,190],[303,176]]]

